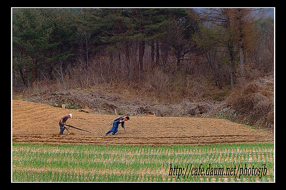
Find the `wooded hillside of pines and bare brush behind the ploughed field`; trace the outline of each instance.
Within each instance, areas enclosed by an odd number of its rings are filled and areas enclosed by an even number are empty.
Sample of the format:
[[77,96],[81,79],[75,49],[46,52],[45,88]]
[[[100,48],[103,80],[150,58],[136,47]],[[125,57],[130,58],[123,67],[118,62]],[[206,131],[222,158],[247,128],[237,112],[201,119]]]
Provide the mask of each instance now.
[[58,104],[86,106],[71,91],[92,88],[102,99],[222,103],[227,119],[272,127],[274,18],[265,11],[12,9],[13,98],[67,92]]

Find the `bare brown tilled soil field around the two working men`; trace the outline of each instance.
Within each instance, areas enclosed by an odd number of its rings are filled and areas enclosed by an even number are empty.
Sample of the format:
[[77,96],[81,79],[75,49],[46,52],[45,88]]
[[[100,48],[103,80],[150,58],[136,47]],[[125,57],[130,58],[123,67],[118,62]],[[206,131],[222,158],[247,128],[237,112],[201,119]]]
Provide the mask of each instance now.
[[[59,120],[72,113],[67,124],[90,132],[69,128],[59,135]],[[130,116],[125,131],[118,127],[116,135],[105,136],[114,115],[79,112],[75,109],[51,107],[41,103],[12,101],[12,142],[42,144],[127,144],[174,145],[244,142],[274,142],[274,135],[247,128],[225,119],[191,117]]]

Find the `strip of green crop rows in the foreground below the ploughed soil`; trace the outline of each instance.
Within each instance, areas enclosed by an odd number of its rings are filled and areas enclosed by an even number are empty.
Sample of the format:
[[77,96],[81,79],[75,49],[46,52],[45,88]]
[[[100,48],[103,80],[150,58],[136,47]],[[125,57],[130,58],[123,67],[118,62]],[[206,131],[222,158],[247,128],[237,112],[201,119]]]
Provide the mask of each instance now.
[[12,144],[12,182],[275,181],[273,144]]

